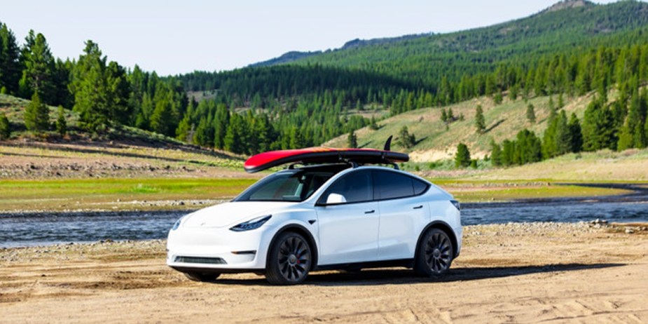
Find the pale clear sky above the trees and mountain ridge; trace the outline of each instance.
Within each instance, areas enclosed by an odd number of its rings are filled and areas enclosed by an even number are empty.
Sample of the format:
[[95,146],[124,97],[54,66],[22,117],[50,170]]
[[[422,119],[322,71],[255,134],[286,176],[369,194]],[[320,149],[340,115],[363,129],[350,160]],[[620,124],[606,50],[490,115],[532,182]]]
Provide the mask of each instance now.
[[167,75],[244,67],[289,50],[338,48],[357,38],[487,26],[558,0],[0,2],[0,21],[21,44],[34,29],[55,56],[78,58],[83,42],[92,39],[109,60]]

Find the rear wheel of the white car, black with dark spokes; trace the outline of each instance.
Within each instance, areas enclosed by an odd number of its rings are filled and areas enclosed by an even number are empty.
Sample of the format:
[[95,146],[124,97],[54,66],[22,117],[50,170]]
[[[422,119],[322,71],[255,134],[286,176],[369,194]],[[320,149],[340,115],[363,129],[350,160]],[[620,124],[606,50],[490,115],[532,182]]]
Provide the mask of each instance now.
[[453,243],[441,229],[428,229],[416,253],[414,271],[420,276],[441,277],[448,273],[453,263]]

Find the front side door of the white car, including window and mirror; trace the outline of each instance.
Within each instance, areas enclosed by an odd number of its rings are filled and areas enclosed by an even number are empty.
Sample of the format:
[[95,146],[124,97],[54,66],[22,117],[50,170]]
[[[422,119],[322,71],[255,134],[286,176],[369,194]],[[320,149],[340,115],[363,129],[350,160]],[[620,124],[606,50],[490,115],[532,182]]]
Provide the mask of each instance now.
[[[326,204],[330,194],[345,202]],[[356,170],[331,184],[315,206],[319,223],[319,264],[373,261],[378,255],[378,203],[371,171]]]

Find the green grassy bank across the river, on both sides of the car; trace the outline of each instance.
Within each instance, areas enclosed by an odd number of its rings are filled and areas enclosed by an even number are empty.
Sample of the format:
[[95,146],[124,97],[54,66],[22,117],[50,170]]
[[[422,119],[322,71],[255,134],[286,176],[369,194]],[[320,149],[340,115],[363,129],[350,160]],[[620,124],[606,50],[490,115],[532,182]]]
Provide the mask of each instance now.
[[[628,192],[551,182],[432,181],[464,203]],[[192,209],[233,198],[254,182],[241,178],[4,180],[0,182],[0,210]]]

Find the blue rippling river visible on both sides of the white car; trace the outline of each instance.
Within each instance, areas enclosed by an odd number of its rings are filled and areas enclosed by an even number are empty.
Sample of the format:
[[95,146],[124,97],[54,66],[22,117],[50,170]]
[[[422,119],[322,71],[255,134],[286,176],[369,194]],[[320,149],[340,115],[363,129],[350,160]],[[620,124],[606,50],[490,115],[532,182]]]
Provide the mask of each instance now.
[[[609,222],[648,222],[648,189],[623,184],[605,186],[633,189],[635,193],[598,198],[465,203],[462,204],[462,224],[581,222],[595,219]],[[163,211],[0,214],[0,247],[106,239],[119,241],[166,238],[174,222],[186,213]]]

